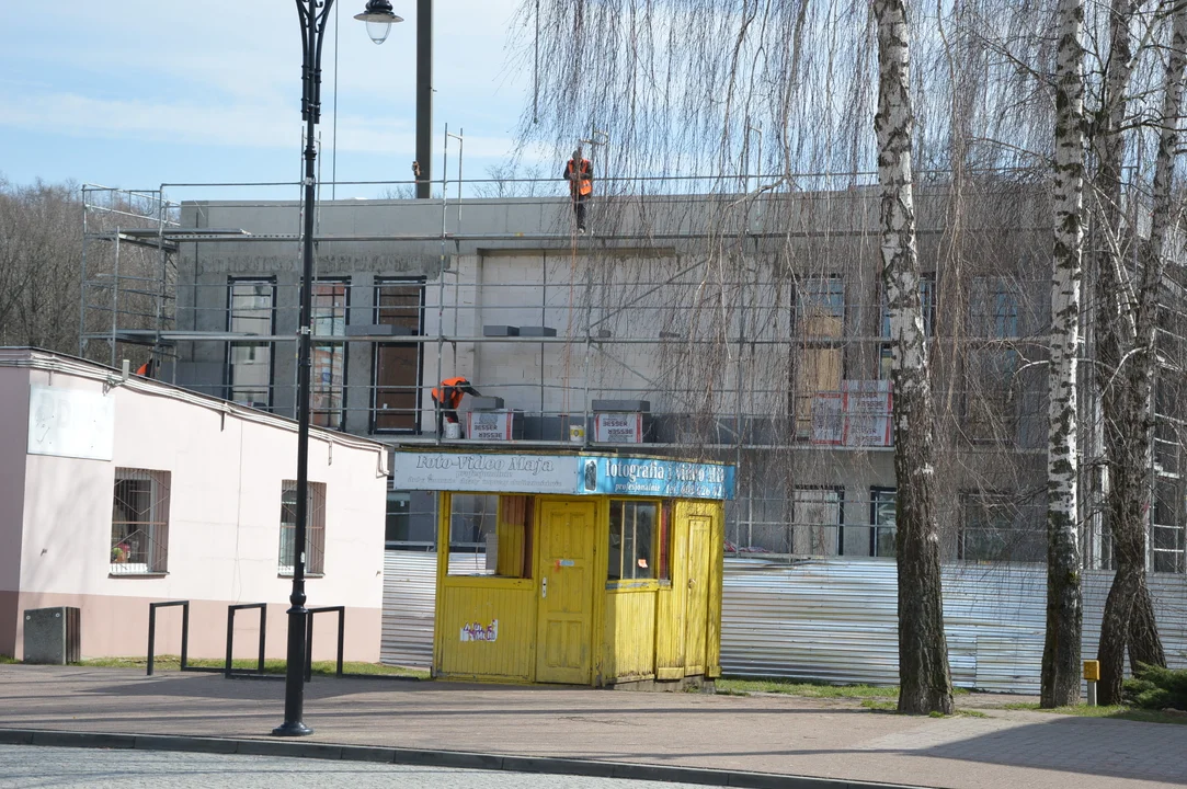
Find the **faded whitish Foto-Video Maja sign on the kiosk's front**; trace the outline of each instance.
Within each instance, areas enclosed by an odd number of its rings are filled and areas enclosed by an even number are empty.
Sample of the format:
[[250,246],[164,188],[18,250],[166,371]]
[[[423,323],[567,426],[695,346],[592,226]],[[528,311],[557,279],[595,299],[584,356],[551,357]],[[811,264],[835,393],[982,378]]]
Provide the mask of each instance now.
[[576,485],[576,457],[395,452],[392,460],[395,490],[572,494]]

